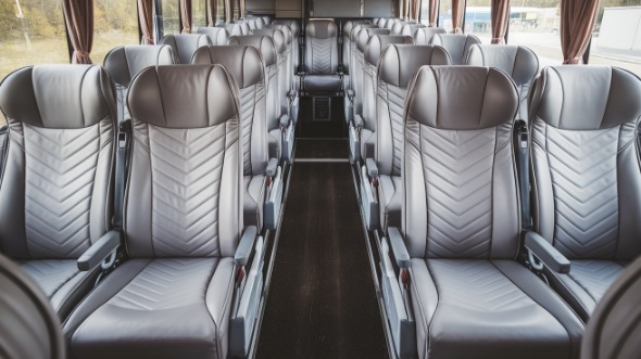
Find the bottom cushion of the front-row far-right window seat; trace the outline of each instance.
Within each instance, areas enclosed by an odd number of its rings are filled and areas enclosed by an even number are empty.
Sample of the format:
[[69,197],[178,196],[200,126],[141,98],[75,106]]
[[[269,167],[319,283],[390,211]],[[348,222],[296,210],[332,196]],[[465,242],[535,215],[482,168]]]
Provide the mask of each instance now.
[[625,265],[614,260],[575,259],[568,274],[548,273],[558,294],[588,321],[596,303],[624,272]]

